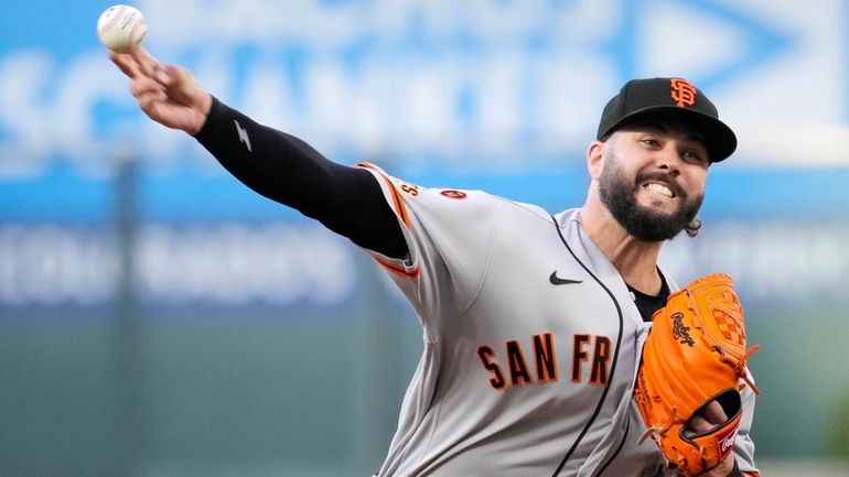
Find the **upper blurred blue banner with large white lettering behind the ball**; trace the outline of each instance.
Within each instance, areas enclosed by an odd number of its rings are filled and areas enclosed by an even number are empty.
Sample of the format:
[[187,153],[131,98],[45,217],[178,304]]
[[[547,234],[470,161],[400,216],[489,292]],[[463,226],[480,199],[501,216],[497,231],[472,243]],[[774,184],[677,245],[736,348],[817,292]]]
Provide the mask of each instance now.
[[[108,3],[4,3],[4,172],[32,174],[56,159],[97,170],[128,151],[162,167],[208,166],[191,140],[141,117],[105,61],[94,30]],[[809,9],[720,0],[136,6],[154,55],[343,161],[560,167],[580,161],[622,83],[660,75],[685,76],[721,105],[741,132],[739,159],[845,160],[816,140],[845,137],[849,120],[849,13],[839,0]],[[771,140],[760,142],[764,134]]]

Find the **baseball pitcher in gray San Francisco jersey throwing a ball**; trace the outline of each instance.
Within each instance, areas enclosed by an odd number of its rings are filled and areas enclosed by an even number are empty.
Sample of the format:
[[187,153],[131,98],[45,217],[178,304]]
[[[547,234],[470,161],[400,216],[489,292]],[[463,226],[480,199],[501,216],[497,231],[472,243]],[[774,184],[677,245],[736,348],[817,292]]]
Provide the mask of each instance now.
[[481,191],[333,163],[143,48],[110,53],[153,120],[364,248],[415,308],[423,353],[385,476],[757,476],[756,388],[728,275],[657,265],[696,235],[737,139],[684,78],[628,82],[585,154],[587,199],[555,215]]

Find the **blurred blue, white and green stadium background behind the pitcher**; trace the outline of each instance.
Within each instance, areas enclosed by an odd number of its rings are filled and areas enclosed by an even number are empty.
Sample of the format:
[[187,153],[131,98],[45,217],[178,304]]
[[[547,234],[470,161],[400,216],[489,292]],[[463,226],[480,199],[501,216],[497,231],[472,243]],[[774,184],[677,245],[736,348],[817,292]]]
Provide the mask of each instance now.
[[[110,3],[0,0],[0,476],[375,470],[421,350],[365,253],[142,117]],[[740,285],[766,476],[849,476],[849,2],[147,0],[149,50],[330,158],[549,212],[637,76],[740,149],[663,259]],[[696,260],[696,264],[692,260]]]

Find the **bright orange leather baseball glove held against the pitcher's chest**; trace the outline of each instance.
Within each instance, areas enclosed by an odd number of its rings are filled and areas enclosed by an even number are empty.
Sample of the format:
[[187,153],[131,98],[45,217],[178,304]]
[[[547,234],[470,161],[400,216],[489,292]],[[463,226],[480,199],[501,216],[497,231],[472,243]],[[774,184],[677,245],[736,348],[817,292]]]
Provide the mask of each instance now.
[[[660,452],[689,476],[721,463],[733,449],[742,418],[739,382],[755,393],[745,369],[743,310],[731,277],[714,273],[673,293],[652,321],[634,399]],[[728,419],[711,429],[694,425],[717,401]]]

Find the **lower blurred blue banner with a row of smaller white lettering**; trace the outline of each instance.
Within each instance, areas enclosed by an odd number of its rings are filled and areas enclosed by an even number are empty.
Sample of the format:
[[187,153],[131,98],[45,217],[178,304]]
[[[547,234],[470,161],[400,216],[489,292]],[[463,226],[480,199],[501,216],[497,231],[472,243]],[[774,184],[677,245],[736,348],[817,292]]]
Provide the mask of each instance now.
[[[701,237],[678,238],[665,251],[674,274],[689,279],[730,271],[750,300],[767,303],[812,296],[847,303],[849,169],[724,166],[711,172]],[[350,304],[359,277],[338,273],[354,269],[358,253],[347,240],[229,176],[146,171],[132,185],[139,196],[135,219],[141,225],[135,253],[146,303],[301,312]],[[406,177],[484,188],[550,212],[581,204],[588,181],[569,166]],[[21,306],[110,302],[119,272],[117,243],[109,239],[117,187],[109,175],[86,176],[67,165],[2,182],[0,317],[15,316]]]

